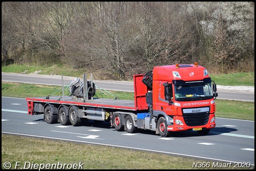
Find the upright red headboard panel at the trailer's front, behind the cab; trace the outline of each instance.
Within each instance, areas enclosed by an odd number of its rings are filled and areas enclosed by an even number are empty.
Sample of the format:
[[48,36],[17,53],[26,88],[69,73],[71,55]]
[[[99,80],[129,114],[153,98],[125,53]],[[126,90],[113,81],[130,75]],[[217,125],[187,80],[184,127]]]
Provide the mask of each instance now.
[[146,103],[146,93],[148,92],[148,88],[142,82],[144,75],[134,75],[134,104],[136,110],[147,110],[148,104]]

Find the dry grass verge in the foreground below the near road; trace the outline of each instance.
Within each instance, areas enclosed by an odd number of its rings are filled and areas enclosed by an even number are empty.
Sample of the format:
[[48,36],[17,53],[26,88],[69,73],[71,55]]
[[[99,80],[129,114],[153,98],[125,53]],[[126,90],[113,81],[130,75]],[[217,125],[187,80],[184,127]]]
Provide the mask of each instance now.
[[[222,169],[213,166],[227,164],[104,145],[2,134],[2,164],[5,162],[10,162],[10,169],[39,169],[36,164],[41,165],[41,169],[46,169],[46,164],[48,168],[57,169],[54,164],[58,163],[62,164],[59,169],[72,166],[74,169]],[[226,169],[233,167],[230,165]]]

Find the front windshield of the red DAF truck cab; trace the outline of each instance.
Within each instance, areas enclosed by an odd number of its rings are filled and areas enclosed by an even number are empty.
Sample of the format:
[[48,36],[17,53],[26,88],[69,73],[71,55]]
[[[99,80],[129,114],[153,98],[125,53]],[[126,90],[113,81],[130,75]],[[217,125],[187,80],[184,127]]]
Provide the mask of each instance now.
[[213,98],[211,83],[198,85],[174,85],[175,100],[193,101]]

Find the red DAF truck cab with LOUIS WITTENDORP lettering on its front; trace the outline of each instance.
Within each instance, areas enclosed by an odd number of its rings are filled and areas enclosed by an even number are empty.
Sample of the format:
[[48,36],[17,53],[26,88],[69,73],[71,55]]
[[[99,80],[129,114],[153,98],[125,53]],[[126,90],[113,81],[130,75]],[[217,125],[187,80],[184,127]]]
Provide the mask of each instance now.
[[160,136],[186,130],[208,134],[216,126],[218,94],[204,67],[197,63],[159,66],[152,75],[152,109]]

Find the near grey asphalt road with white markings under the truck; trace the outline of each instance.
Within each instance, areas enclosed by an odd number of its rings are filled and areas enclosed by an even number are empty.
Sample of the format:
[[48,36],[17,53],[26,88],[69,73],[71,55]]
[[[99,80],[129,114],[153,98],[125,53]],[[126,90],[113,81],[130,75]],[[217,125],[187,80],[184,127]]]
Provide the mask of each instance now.
[[[216,128],[207,136],[196,132],[175,132],[162,138],[152,131],[134,134],[118,132],[107,122],[84,122],[81,126],[47,124],[43,115],[27,114],[27,103],[22,98],[2,97],[2,134],[16,134],[128,149],[138,149],[181,157],[232,163],[232,169],[254,166],[254,121],[216,118]],[[150,157],[150,156],[149,156]],[[171,162],[171,161],[170,161]],[[193,163],[191,163],[193,167]],[[216,166],[217,167],[217,166]]]

